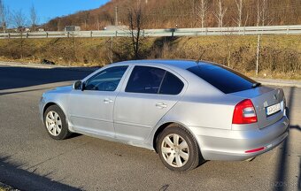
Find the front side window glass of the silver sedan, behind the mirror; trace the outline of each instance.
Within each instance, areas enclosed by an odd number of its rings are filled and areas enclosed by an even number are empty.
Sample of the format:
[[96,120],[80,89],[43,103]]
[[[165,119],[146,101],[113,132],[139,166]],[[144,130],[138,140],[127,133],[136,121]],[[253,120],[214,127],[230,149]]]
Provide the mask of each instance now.
[[126,71],[127,65],[114,66],[105,69],[89,78],[89,80],[85,83],[85,89],[96,91],[115,91]]

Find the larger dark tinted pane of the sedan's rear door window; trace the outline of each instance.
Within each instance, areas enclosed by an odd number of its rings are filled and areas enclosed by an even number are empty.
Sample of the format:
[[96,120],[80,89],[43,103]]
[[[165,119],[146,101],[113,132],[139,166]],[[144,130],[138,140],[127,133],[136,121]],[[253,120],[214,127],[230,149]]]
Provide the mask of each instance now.
[[127,82],[126,92],[158,94],[166,71],[149,66],[135,66]]

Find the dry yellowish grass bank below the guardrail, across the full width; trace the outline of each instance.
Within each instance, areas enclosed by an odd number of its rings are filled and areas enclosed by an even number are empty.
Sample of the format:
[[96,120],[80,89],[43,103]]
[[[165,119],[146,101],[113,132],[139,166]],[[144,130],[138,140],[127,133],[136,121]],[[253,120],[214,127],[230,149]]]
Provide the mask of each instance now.
[[[210,60],[254,76],[257,36],[224,35],[143,39],[141,58]],[[133,57],[129,38],[58,38],[0,40],[0,59],[58,65],[106,65]],[[301,36],[264,35],[261,38],[259,77],[301,79]]]

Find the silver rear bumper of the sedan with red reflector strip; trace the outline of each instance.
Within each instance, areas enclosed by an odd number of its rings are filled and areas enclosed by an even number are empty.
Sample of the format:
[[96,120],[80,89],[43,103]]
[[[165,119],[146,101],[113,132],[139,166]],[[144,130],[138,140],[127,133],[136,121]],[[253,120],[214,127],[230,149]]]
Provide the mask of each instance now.
[[[274,149],[289,135],[289,119],[283,116],[271,126],[247,131],[191,127],[205,160],[246,160]],[[251,149],[262,150],[246,153]]]

